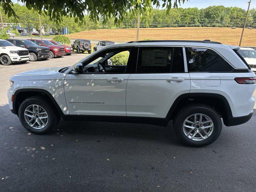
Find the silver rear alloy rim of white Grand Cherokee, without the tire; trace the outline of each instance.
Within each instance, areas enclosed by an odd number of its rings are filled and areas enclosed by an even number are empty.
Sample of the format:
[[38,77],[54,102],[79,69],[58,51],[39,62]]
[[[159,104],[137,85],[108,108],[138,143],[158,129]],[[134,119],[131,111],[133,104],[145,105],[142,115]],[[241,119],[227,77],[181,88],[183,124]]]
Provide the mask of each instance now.
[[193,114],[183,122],[183,133],[194,141],[202,141],[210,137],[214,129],[212,119],[205,114]]

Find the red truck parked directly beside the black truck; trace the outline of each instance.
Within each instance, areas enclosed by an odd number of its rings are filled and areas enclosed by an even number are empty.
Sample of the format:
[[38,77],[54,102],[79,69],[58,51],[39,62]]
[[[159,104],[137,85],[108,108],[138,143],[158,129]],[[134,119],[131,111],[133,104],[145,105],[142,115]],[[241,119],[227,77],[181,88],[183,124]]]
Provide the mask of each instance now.
[[61,57],[66,54],[63,46],[55,45],[48,40],[39,40],[39,39],[28,39],[28,40],[34,42],[37,45],[48,47],[50,49],[49,58]]

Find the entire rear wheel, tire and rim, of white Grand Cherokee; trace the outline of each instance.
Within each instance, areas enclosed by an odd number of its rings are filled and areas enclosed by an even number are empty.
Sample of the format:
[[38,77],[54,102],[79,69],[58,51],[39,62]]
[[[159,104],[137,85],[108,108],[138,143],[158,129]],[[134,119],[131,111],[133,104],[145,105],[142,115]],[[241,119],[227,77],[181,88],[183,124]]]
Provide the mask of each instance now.
[[174,119],[174,130],[185,144],[202,147],[218,138],[222,122],[218,113],[210,106],[190,105],[178,112]]

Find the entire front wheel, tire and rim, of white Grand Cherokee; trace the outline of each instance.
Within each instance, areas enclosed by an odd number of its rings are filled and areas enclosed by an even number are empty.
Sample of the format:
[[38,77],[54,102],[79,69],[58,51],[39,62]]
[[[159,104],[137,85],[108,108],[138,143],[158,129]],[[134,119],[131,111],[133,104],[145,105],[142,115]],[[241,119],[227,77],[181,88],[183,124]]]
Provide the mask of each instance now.
[[60,118],[48,103],[40,97],[31,97],[22,102],[18,114],[24,128],[36,134],[46,134],[58,125]]

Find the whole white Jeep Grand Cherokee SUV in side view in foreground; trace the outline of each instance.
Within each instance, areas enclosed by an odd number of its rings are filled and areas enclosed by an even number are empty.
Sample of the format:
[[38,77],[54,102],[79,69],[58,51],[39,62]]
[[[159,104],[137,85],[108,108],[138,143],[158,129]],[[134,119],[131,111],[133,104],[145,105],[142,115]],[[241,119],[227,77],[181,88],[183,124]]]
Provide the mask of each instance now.
[[209,40],[110,45],[74,66],[12,76],[10,109],[37,134],[60,117],[162,126],[173,120],[184,143],[206,146],[220,135],[221,118],[234,126],[252,117],[256,76],[237,50]]

